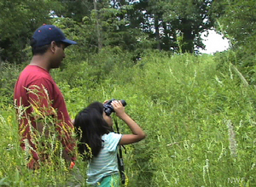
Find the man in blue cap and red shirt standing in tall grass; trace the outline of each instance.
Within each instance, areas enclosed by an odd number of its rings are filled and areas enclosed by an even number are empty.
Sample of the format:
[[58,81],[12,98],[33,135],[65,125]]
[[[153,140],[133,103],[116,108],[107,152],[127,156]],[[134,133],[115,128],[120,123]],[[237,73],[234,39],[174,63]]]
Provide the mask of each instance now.
[[[30,155],[29,168],[36,169],[42,163],[53,161],[51,153],[57,147],[61,147],[60,155],[69,163],[76,159],[73,123],[61,90],[49,74],[51,69],[61,65],[64,49],[76,43],[51,25],[40,26],[32,36],[32,60],[20,73],[14,95],[20,146]],[[62,146],[53,143],[55,137]]]

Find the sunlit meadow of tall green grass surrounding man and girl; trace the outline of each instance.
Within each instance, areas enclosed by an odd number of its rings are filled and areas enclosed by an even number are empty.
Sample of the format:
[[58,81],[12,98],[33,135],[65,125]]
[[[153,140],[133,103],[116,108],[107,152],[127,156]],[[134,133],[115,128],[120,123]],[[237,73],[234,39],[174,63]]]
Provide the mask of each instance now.
[[[125,146],[125,186],[256,186],[256,88],[229,54],[151,51],[132,61],[102,52],[94,60],[73,62],[67,54],[65,68],[51,74],[72,117],[90,102],[125,99],[125,110],[147,133]],[[26,168],[12,101],[26,64],[1,66],[0,186],[67,186],[76,178],[65,164]],[[118,122],[120,133],[129,133]],[[86,178],[80,157],[76,167]]]

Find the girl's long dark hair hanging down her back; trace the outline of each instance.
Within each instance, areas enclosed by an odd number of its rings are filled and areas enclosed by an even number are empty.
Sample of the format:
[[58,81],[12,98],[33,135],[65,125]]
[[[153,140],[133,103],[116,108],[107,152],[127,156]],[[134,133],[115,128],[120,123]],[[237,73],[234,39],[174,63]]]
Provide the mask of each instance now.
[[99,154],[102,150],[102,135],[111,131],[102,114],[103,104],[94,102],[75,117],[74,127],[79,138],[79,153],[85,159]]

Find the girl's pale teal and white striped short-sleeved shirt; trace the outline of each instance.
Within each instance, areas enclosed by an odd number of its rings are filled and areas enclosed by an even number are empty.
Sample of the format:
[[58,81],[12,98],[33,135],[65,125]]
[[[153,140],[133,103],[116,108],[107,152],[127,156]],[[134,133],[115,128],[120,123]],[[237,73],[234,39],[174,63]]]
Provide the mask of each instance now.
[[102,135],[102,150],[89,163],[87,184],[96,185],[102,178],[119,173],[117,152],[122,134],[108,133]]

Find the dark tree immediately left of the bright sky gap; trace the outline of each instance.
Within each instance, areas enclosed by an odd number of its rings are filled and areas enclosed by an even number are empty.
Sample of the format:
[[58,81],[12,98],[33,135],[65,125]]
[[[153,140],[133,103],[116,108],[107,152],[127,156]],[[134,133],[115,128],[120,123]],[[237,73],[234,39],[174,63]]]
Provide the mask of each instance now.
[[201,32],[213,26],[212,0],[165,1],[163,20],[182,37],[181,51],[194,53],[194,48],[204,48]]

